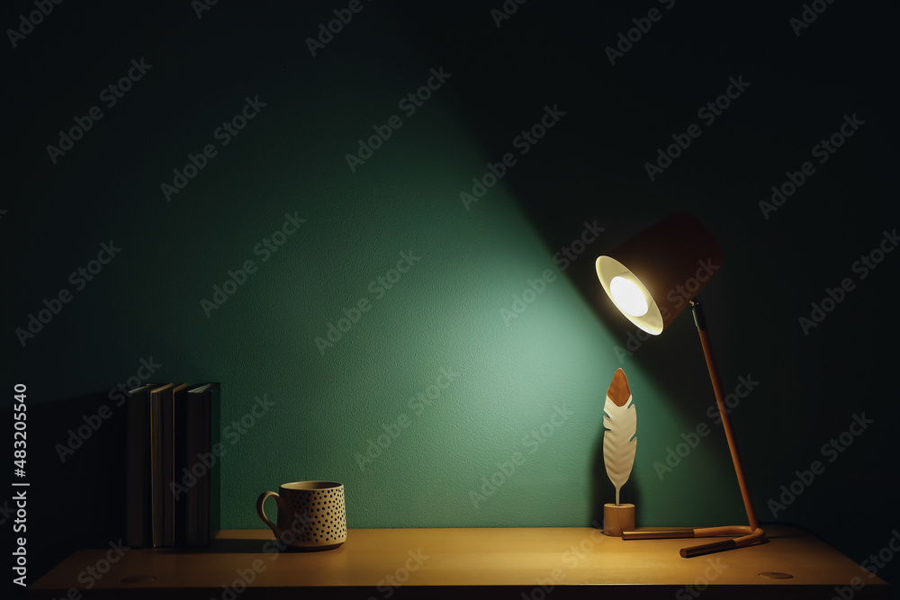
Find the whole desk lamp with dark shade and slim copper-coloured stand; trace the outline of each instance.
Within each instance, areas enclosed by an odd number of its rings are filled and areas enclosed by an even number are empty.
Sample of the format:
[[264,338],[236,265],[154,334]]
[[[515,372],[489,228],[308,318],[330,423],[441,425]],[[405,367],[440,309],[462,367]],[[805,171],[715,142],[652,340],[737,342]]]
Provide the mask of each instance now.
[[725,393],[709,345],[703,311],[696,300],[698,291],[721,265],[722,250],[716,238],[698,219],[683,212],[662,219],[597,259],[597,276],[603,290],[629,321],[648,334],[659,336],[688,305],[694,313],[694,323],[707,359],[709,379],[716,394],[716,405],[750,525],[641,530],[622,534],[623,540],[738,536],[682,548],[680,553],[685,558],[743,548],[766,539],[753,511],[750,488],[725,408]]

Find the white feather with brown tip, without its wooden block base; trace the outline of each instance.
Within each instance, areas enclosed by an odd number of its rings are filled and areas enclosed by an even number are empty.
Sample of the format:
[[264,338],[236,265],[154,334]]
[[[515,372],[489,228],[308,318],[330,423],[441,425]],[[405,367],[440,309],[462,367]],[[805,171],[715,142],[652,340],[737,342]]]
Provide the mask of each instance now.
[[637,451],[637,408],[628,378],[621,369],[617,369],[609,384],[603,412],[603,462],[609,480],[616,486],[616,504],[619,504],[619,490],[631,475]]

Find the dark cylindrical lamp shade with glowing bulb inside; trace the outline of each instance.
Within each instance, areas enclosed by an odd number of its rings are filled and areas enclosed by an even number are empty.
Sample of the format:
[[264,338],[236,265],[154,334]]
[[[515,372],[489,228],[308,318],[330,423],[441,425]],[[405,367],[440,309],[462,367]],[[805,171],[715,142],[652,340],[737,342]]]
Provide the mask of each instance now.
[[603,290],[637,327],[658,336],[722,266],[716,238],[676,212],[597,259]]

